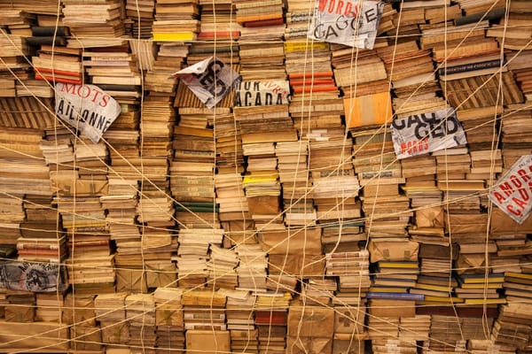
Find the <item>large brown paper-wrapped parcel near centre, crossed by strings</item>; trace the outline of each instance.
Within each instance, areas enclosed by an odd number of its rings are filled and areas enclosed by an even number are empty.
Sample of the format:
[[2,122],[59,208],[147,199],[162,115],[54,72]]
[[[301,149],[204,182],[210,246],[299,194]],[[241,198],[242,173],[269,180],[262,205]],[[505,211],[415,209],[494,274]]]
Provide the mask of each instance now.
[[320,254],[321,228],[265,231],[259,234],[262,250],[270,254]]

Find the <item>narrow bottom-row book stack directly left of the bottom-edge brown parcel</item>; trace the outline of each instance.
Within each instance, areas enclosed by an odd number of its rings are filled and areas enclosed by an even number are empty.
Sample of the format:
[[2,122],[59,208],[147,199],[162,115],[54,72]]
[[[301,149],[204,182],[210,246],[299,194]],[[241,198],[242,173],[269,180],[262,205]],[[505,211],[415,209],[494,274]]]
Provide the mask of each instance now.
[[155,333],[159,350],[184,350],[183,305],[184,289],[157,288],[155,300]]

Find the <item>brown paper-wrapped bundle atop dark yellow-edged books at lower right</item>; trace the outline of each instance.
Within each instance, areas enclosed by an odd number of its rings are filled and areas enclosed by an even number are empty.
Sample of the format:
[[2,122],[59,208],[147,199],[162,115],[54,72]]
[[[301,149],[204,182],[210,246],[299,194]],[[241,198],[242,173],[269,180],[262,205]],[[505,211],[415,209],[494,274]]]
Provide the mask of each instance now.
[[372,240],[368,250],[372,263],[379,260],[418,260],[419,243],[403,239]]

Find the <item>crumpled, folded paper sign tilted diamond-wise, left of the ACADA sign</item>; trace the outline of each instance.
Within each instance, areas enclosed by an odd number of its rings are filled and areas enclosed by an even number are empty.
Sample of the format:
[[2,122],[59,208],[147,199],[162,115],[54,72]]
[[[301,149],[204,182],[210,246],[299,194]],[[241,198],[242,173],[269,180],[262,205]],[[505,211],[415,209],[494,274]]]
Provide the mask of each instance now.
[[222,101],[240,80],[239,73],[230,65],[213,57],[172,73],[172,77],[181,79],[207,108],[213,108]]

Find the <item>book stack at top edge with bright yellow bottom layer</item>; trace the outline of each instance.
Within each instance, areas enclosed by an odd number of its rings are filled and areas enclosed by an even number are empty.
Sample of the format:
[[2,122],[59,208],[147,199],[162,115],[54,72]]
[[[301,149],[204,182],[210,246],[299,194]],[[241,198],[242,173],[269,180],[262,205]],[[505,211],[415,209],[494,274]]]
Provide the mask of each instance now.
[[154,42],[194,41],[200,32],[198,0],[157,0],[153,21]]

